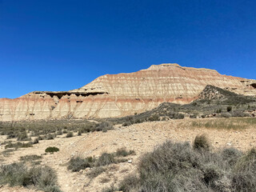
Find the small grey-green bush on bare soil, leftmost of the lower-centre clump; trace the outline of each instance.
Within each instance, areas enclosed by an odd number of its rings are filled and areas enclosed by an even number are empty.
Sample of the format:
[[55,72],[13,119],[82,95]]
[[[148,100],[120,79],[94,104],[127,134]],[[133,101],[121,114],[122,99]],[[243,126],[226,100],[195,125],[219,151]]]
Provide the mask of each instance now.
[[78,172],[79,170],[86,169],[86,167],[93,167],[93,166],[94,166],[94,158],[75,157],[70,159],[67,169],[72,170],[74,172]]

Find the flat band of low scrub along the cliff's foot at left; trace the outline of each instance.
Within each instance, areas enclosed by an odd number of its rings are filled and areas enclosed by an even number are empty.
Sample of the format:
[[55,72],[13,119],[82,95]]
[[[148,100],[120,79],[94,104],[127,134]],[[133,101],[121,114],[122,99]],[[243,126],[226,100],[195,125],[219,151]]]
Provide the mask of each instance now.
[[[69,123],[66,123],[66,122]],[[112,122],[89,122],[87,120],[54,120],[37,122],[2,122],[0,133],[7,135],[7,139],[17,138],[18,141],[30,141],[30,137],[38,137],[38,140],[50,140],[57,135],[67,134],[70,137],[78,131],[78,135],[94,131],[103,131],[113,129]],[[74,135],[73,135],[74,136]],[[72,137],[73,137],[72,136]]]

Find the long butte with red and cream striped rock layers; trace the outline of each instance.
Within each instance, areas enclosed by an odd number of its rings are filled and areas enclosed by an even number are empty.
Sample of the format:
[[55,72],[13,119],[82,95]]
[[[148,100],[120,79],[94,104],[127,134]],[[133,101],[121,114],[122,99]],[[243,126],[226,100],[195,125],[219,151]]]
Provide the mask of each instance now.
[[256,80],[161,64],[129,74],[106,74],[77,90],[0,98],[0,121],[122,117],[151,110],[162,102],[192,102],[206,85],[256,95]]

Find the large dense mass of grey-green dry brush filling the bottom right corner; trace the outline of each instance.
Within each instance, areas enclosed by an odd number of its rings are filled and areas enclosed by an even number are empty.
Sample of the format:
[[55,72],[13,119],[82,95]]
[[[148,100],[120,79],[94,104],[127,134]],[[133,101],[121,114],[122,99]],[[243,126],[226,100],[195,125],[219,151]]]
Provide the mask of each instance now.
[[205,137],[195,140],[200,143],[196,147],[188,142],[163,143],[142,156],[138,177],[130,174],[118,189],[111,186],[103,191],[254,191],[255,149],[246,154],[233,148],[213,152]]

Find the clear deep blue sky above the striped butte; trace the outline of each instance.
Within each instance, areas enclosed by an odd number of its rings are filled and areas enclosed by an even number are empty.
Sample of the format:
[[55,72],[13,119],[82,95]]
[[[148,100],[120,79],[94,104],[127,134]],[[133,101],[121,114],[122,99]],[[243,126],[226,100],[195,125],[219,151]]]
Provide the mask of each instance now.
[[256,78],[256,1],[0,0],[0,98],[177,62]]

